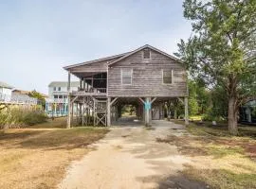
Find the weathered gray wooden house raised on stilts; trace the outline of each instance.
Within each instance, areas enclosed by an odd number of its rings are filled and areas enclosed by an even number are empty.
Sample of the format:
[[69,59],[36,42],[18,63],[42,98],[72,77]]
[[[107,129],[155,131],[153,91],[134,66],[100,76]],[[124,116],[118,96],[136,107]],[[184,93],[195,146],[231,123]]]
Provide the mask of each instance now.
[[[111,126],[125,104],[133,104],[137,117],[149,126],[152,119],[164,118],[164,103],[174,98],[184,103],[188,124],[186,69],[180,60],[151,45],[64,69],[68,72],[67,128],[75,121],[82,126]],[[80,79],[78,91],[70,90],[71,75]]]

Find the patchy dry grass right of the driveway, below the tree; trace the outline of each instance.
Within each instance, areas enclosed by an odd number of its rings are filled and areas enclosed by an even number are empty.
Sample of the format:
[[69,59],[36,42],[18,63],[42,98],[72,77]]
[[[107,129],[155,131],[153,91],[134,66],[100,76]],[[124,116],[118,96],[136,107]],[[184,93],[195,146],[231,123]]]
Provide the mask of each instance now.
[[212,188],[256,188],[256,140],[247,134],[255,128],[242,127],[237,137],[223,127],[191,124],[187,129],[190,135],[157,139],[177,146],[181,154],[191,158],[183,171],[186,177],[204,181]]

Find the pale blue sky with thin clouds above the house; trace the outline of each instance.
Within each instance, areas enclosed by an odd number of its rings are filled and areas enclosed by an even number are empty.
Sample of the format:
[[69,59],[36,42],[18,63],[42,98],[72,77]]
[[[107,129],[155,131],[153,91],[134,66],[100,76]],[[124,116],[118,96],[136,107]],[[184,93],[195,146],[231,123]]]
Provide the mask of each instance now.
[[0,26],[0,80],[46,94],[64,65],[146,43],[173,54],[191,34],[182,0],[0,1]]

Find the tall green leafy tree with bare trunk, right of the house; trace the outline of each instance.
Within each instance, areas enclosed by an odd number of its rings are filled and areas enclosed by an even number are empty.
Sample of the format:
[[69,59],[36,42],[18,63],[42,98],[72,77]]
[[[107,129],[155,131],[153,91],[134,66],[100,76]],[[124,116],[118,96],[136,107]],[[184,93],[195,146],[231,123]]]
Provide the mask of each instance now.
[[229,132],[237,134],[238,108],[256,88],[256,1],[185,0],[183,7],[192,36],[186,43],[181,40],[176,55],[192,77],[225,89]]

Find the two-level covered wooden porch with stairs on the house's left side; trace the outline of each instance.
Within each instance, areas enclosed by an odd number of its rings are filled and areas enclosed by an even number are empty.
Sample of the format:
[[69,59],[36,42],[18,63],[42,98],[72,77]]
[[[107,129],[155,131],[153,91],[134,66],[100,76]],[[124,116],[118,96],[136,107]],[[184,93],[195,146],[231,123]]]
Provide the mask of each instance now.
[[[78,91],[71,91],[71,74],[79,77]],[[67,128],[75,125],[106,126],[107,73],[68,72]],[[74,107],[78,110],[74,112]]]

